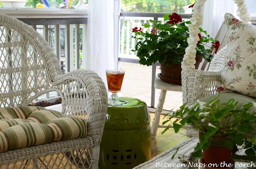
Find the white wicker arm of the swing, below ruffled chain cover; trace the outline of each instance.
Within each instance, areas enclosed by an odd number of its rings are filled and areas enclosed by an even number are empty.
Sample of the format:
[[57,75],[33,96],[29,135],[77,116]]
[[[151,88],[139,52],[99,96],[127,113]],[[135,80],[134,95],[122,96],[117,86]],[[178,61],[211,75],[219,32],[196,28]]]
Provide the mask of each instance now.
[[199,98],[217,93],[221,72],[183,69],[181,74],[183,103],[191,105]]

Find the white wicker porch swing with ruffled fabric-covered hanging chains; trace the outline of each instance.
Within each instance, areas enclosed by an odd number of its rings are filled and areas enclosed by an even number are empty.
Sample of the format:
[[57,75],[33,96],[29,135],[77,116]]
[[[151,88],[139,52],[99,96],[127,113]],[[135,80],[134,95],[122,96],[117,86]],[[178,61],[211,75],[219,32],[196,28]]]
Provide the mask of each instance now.
[[[197,0],[193,7],[193,16],[190,18],[191,25],[188,26],[190,38],[188,38],[188,48],[181,63],[182,72],[182,98],[183,103],[188,102],[191,105],[197,99],[210,96],[217,93],[217,87],[220,85],[221,71],[224,68],[224,56],[227,47],[222,48],[213,58],[209,70],[195,70],[196,43],[198,41],[199,26],[202,25],[202,7],[206,0]],[[234,0],[238,6],[239,13],[237,14],[244,22],[251,20],[248,8],[244,0]],[[199,32],[198,32],[199,31]],[[187,134],[195,135],[195,130],[188,129]]]

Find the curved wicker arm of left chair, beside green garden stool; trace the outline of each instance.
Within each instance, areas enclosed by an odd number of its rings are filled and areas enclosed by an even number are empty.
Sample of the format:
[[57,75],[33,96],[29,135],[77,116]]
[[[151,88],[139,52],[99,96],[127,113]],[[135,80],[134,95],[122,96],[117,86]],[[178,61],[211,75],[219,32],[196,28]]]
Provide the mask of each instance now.
[[73,70],[56,76],[52,85],[62,93],[62,112],[84,118],[87,133],[95,147],[100,145],[108,108],[108,95],[102,79],[91,70]]

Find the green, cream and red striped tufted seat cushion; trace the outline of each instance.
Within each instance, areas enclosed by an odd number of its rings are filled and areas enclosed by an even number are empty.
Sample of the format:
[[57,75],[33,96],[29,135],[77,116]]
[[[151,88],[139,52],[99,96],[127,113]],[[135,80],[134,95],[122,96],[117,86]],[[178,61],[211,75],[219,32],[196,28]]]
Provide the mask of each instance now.
[[44,107],[0,108],[0,152],[86,136],[86,121]]

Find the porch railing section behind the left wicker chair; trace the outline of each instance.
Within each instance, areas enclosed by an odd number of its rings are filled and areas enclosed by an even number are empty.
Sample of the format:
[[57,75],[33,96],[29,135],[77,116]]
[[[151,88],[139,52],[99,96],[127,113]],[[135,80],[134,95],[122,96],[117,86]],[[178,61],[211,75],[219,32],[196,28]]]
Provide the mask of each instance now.
[[[56,53],[63,73],[85,69],[87,12],[79,9],[3,8],[1,13],[18,18],[37,30]],[[59,98],[57,92],[34,101]]]

